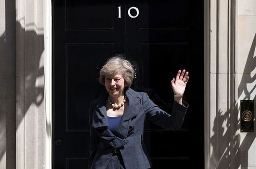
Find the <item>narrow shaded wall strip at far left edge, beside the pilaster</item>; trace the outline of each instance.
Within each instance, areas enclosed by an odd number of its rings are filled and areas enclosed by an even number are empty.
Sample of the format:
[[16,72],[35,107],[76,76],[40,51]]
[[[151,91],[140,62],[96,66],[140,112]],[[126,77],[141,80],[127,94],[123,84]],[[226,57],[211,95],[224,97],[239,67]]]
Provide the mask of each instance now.
[[0,20],[3,21],[0,25],[0,168],[14,169],[16,147],[15,0],[5,0],[5,2],[1,0],[0,6],[1,14],[3,14],[0,15]]

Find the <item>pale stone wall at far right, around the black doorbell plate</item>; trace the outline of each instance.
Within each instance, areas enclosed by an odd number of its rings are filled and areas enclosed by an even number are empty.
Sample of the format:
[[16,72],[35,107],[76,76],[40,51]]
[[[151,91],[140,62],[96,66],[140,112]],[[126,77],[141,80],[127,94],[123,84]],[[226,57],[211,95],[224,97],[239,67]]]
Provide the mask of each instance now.
[[[256,107],[256,1],[238,0],[237,9],[237,58],[238,110],[240,100],[254,100]],[[254,108],[254,120],[256,117]],[[241,113],[241,112],[240,112]],[[240,119],[240,114],[238,116]],[[241,169],[256,169],[256,123],[254,132],[240,132]]]

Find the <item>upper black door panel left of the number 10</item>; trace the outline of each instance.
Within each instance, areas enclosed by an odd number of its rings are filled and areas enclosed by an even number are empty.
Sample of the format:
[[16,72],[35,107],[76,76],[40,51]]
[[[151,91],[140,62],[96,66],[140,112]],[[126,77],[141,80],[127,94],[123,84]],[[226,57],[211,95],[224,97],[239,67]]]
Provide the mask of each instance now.
[[67,0],[66,29],[115,29],[114,0]]

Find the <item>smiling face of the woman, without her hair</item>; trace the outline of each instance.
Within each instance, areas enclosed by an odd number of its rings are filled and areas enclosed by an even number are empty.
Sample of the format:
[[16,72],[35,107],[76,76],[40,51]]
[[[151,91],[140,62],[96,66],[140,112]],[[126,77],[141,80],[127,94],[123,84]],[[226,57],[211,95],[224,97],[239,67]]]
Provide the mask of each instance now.
[[121,72],[105,77],[105,87],[112,97],[124,95],[125,81]]

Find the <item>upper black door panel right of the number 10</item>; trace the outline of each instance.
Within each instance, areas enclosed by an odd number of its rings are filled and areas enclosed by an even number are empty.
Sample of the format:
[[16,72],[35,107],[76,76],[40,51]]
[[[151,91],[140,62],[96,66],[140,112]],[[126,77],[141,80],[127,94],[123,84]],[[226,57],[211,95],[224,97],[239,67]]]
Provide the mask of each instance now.
[[141,29],[189,27],[189,1],[141,0]]

